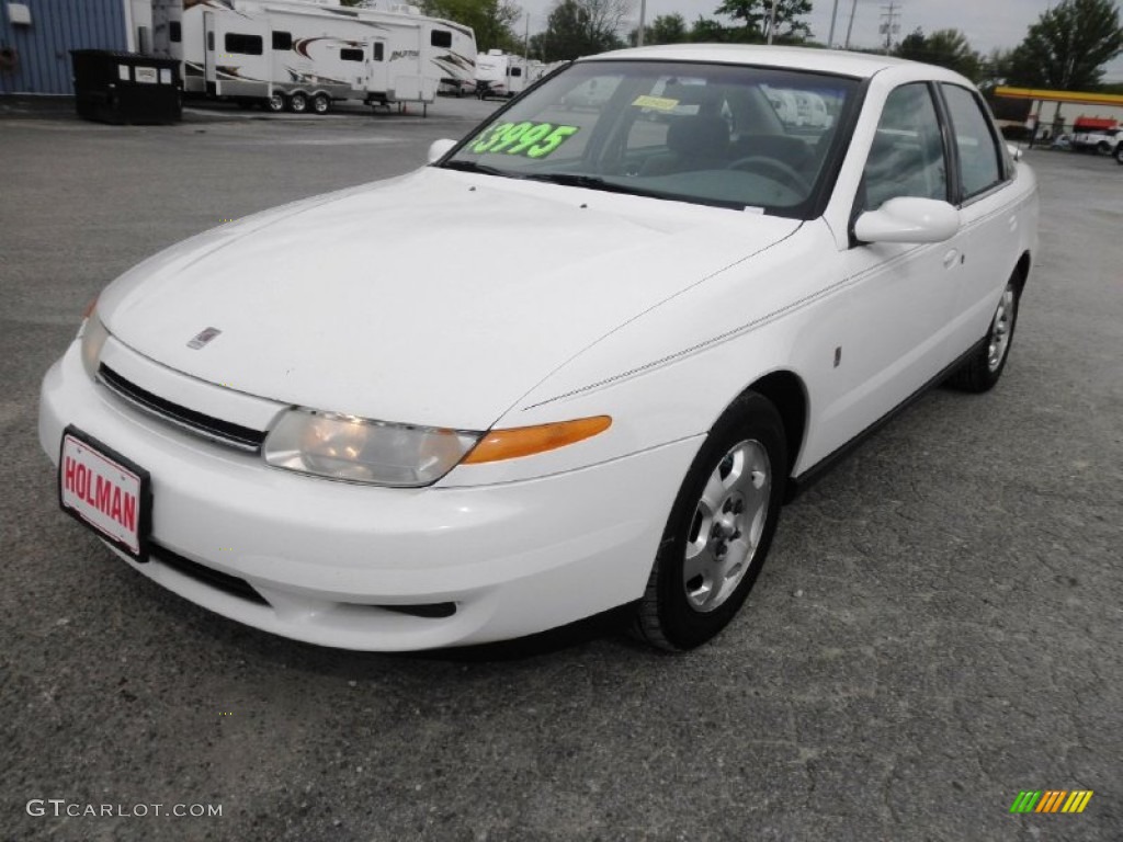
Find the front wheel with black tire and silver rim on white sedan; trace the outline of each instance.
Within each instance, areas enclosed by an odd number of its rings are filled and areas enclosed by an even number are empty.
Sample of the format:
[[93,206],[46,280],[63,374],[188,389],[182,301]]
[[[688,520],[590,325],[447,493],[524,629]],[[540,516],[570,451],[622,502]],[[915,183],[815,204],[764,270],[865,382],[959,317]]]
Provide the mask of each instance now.
[[[675,497],[636,608],[633,630],[641,640],[669,651],[693,649],[736,616],[779,520],[785,442],[779,413],[755,392],[737,399],[710,430]],[[706,559],[720,570],[709,580]],[[688,579],[695,569],[701,571]]]

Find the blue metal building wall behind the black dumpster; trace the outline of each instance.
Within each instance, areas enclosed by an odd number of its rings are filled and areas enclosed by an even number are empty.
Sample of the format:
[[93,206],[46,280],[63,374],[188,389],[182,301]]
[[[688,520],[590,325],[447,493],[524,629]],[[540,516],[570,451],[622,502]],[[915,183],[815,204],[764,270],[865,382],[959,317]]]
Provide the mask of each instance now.
[[0,0],[0,93],[73,93],[72,49],[129,48],[128,0]]

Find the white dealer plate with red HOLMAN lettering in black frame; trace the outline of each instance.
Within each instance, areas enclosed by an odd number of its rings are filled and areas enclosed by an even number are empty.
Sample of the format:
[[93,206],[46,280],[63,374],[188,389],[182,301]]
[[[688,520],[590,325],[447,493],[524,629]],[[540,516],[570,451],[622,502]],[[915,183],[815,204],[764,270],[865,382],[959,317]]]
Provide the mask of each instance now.
[[137,561],[148,560],[148,472],[74,427],[63,432],[58,503]]

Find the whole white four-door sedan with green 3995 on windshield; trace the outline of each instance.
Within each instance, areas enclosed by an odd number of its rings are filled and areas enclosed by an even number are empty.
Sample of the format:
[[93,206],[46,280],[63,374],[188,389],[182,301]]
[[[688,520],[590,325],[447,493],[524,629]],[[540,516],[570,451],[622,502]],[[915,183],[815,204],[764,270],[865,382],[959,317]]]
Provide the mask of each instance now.
[[610,53],[427,167],[126,273],[39,438],[66,513],[259,629],[408,650],[632,605],[688,649],[801,486],[922,390],[995,384],[1037,217],[949,71]]

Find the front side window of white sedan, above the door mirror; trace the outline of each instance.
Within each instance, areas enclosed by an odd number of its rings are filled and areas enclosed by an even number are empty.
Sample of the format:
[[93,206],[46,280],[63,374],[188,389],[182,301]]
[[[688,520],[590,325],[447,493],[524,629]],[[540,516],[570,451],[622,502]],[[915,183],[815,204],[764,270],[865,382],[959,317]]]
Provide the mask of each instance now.
[[886,100],[864,183],[864,210],[877,210],[898,196],[948,200],[940,120],[923,82],[902,85]]

